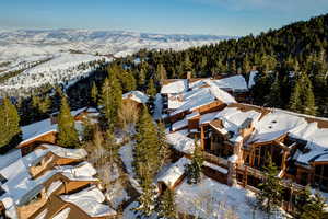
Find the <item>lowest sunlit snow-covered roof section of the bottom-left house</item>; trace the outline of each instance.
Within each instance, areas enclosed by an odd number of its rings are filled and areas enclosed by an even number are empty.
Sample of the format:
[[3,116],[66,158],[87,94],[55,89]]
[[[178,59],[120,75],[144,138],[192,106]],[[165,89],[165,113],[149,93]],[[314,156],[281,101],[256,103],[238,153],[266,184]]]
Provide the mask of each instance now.
[[96,186],[91,186],[72,195],[61,195],[60,198],[67,203],[74,204],[91,217],[116,215],[114,209],[103,204],[105,196]]

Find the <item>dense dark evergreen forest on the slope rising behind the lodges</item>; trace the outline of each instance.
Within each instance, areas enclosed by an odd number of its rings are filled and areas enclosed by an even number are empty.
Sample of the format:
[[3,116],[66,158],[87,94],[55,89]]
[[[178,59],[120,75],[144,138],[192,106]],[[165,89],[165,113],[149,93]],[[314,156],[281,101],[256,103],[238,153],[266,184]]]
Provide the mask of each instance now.
[[[147,89],[151,80],[218,77],[258,70],[254,104],[328,116],[328,15],[297,22],[258,36],[248,35],[183,51],[140,50],[117,62]],[[274,93],[274,94],[273,94]],[[279,95],[277,95],[279,94]]]

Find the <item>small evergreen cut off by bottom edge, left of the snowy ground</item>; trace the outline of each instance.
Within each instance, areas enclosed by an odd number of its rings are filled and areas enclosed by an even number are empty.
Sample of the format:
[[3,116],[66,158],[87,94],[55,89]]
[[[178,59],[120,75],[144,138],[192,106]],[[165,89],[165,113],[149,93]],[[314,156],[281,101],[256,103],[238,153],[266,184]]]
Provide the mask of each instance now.
[[166,189],[156,199],[156,212],[161,219],[175,219],[177,217],[177,211],[175,208],[175,194],[174,191]]

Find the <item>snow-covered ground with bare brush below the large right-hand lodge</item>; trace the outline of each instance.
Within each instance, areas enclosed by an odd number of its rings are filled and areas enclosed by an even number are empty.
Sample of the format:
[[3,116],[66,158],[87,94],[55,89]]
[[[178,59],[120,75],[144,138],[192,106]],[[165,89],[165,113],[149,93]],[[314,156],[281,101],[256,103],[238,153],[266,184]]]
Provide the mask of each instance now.
[[[255,195],[242,187],[230,187],[202,176],[199,184],[189,185],[186,180],[176,189],[176,205],[180,212],[200,218],[266,218],[255,209]],[[272,217],[272,216],[271,216]],[[272,218],[283,218],[279,215]]]

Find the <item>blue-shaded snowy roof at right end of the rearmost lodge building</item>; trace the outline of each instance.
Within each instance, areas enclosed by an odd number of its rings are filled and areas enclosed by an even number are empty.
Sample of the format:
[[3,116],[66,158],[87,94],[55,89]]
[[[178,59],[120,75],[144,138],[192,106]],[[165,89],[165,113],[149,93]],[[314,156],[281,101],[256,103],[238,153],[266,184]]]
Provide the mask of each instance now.
[[220,89],[227,89],[233,91],[247,91],[247,83],[245,78],[242,74],[232,76],[219,80],[213,80],[213,82]]

